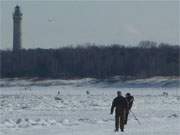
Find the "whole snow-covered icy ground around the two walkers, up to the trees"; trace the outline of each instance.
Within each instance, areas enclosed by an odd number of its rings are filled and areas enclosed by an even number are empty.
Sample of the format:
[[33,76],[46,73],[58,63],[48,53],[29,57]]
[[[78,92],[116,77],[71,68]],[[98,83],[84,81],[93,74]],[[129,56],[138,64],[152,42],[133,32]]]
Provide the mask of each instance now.
[[[0,135],[179,135],[179,82],[1,79]],[[130,114],[123,133],[113,132],[110,115],[117,90],[134,95],[132,111],[141,122]]]

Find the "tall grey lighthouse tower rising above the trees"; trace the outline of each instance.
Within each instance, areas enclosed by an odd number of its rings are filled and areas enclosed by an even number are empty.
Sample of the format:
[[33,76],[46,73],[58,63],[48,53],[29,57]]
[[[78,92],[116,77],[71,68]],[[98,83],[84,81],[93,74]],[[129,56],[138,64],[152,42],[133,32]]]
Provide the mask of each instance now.
[[13,51],[21,49],[21,20],[22,13],[17,5],[13,13]]

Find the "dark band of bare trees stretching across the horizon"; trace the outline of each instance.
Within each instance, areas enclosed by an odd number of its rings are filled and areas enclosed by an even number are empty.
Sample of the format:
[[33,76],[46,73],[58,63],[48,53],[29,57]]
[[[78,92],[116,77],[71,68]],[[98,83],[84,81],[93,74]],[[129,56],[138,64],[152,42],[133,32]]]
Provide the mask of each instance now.
[[180,46],[142,41],[139,46],[87,46],[1,50],[1,77],[136,78],[180,75]]

